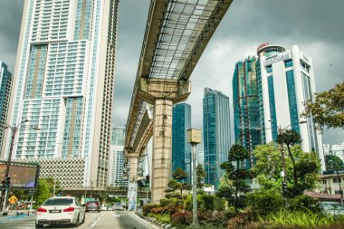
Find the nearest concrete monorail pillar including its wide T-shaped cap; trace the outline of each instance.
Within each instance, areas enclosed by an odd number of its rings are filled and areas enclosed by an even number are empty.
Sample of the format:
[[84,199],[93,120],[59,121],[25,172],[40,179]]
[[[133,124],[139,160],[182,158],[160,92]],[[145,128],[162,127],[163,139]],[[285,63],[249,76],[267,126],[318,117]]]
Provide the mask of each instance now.
[[[172,105],[187,99],[190,81],[140,78],[138,97],[154,105],[151,202],[165,196],[171,177]],[[137,152],[134,148],[133,151]]]

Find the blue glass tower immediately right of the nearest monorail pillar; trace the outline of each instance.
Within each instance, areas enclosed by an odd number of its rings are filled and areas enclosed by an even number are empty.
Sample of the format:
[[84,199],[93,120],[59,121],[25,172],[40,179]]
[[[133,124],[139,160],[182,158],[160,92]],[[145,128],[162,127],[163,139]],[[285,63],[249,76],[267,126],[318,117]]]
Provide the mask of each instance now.
[[191,106],[186,103],[173,105],[172,116],[172,173],[181,167],[191,183],[191,145],[187,142],[187,129],[191,129]]

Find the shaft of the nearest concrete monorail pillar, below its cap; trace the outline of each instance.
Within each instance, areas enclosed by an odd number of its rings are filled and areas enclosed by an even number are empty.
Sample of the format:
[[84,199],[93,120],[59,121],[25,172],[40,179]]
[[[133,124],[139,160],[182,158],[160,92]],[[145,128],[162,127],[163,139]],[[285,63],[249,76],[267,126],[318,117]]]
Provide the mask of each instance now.
[[164,198],[171,177],[172,100],[155,101],[153,121],[152,203]]

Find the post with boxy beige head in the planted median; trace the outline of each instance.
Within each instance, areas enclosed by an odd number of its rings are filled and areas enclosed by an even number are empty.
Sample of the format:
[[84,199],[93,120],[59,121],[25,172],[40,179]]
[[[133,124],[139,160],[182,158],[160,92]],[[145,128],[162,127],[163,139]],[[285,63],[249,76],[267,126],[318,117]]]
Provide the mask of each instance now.
[[201,130],[200,129],[187,129],[187,141],[192,146],[192,227],[198,227],[197,219],[197,177],[196,177],[196,145],[201,143]]

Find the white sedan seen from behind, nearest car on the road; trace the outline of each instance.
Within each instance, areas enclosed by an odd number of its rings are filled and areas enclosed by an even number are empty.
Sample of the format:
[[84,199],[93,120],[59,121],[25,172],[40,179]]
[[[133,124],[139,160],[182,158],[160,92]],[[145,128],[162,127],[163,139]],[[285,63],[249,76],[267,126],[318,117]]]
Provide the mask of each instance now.
[[85,206],[76,197],[60,196],[47,199],[37,209],[36,228],[44,224],[72,224],[76,227],[85,222]]

